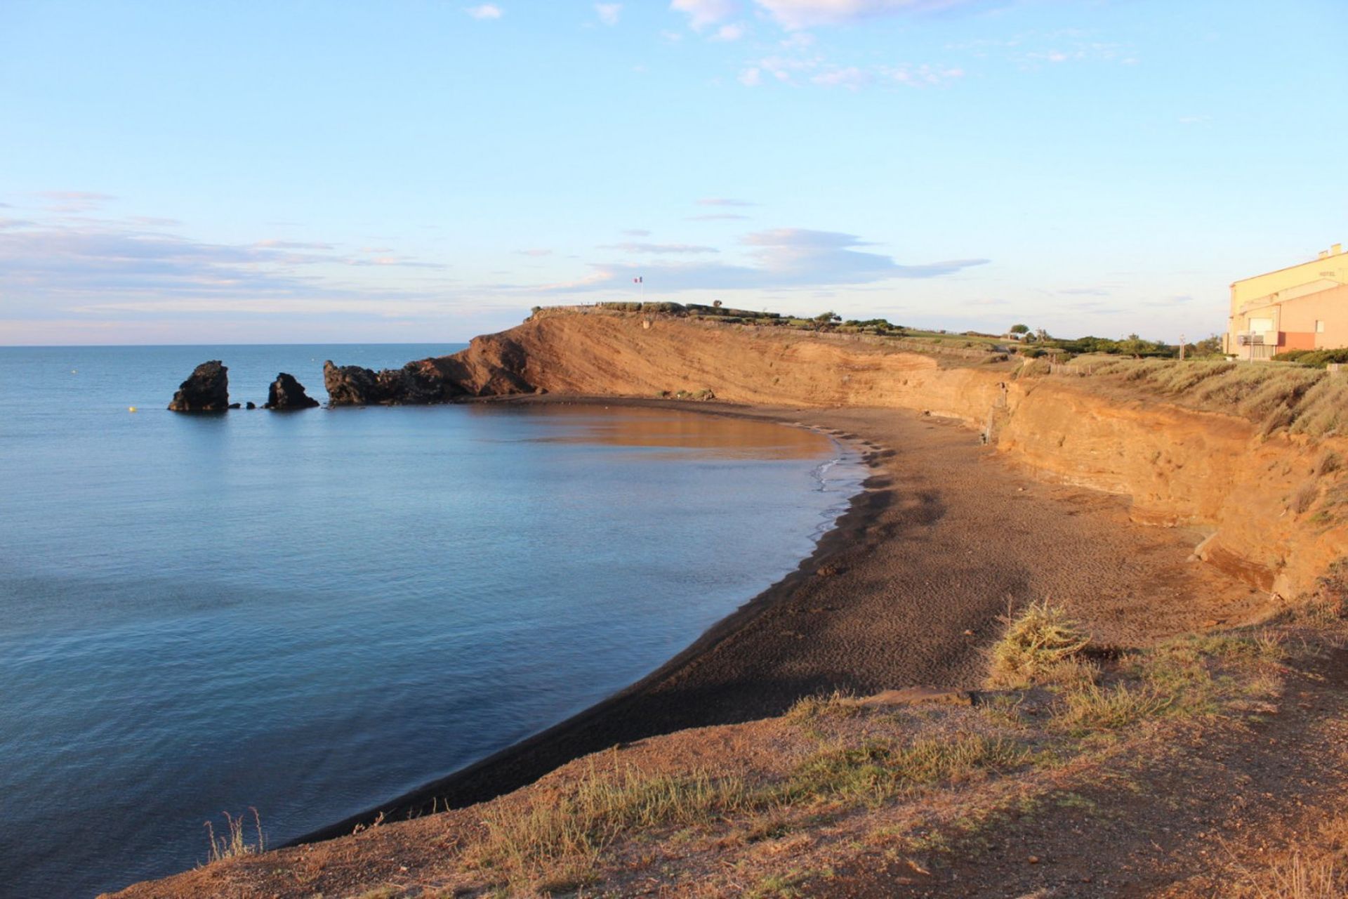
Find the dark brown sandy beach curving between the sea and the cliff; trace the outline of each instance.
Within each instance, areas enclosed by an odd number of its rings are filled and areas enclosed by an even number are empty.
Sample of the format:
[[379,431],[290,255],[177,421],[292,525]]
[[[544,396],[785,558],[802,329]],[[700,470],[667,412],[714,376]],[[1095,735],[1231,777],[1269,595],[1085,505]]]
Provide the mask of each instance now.
[[1134,524],[1127,499],[1041,483],[976,431],[902,410],[638,404],[801,423],[856,447],[865,489],[799,569],[659,670],[496,755],[295,842],[489,799],[578,756],[785,712],[836,689],[977,686],[1008,604],[1051,597],[1104,644],[1255,616],[1263,594],[1190,559],[1202,534]]

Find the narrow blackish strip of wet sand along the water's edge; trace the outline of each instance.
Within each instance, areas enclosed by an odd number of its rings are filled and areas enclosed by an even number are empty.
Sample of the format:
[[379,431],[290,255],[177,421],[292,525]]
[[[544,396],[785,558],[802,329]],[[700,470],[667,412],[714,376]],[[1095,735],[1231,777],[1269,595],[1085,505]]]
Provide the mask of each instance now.
[[[671,675],[675,675],[687,666],[694,666],[698,656],[712,651],[724,640],[732,638],[737,631],[749,625],[771,607],[790,598],[790,596],[809,578],[816,577],[817,569],[826,559],[836,555],[844,545],[844,532],[864,530],[879,516],[882,503],[871,500],[876,491],[872,481],[876,480],[876,454],[883,447],[875,447],[863,442],[856,435],[844,435],[814,425],[789,421],[790,416],[776,410],[764,410],[752,406],[739,406],[731,403],[674,400],[674,399],[642,399],[642,398],[609,398],[609,396],[492,396],[469,400],[470,403],[503,403],[511,406],[621,406],[630,408],[662,408],[694,412],[701,415],[716,415],[721,418],[740,418],[754,421],[767,421],[785,427],[805,427],[828,437],[838,443],[844,450],[855,453],[857,462],[869,472],[857,484],[856,492],[848,499],[847,508],[833,520],[833,524],[816,540],[814,551],[802,558],[791,571],[778,578],[774,584],[758,594],[745,600],[735,611],[716,621],[704,631],[693,643],[681,650],[677,655],[658,666],[654,671],[639,681],[621,687],[612,695],[590,705],[576,714],[558,721],[523,740],[506,745],[484,759],[473,762],[442,778],[437,778],[421,787],[415,787],[402,795],[379,803],[371,809],[348,815],[341,821],[318,828],[306,834],[288,840],[278,848],[298,846],[309,842],[321,842],[334,837],[342,837],[357,826],[369,826],[375,821],[402,821],[423,814],[433,814],[435,810],[464,807],[477,802],[484,802],[499,795],[511,793],[522,786],[532,783],[558,767],[578,759],[590,752],[596,752],[620,743],[631,743],[650,736],[685,729],[687,726],[706,726],[710,724],[732,724],[739,721],[716,720],[702,724],[683,724],[674,728],[654,726],[648,720],[627,721],[621,720],[624,712],[639,698]],[[749,714],[740,720],[748,721],[763,714]],[[609,739],[616,735],[616,739]]]

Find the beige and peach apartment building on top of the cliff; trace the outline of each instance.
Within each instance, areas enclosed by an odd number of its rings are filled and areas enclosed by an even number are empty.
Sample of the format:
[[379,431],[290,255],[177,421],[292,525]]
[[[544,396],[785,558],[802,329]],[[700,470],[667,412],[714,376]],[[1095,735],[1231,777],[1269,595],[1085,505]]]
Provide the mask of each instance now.
[[1289,349],[1348,346],[1348,252],[1335,244],[1317,259],[1231,284],[1224,352],[1242,360]]

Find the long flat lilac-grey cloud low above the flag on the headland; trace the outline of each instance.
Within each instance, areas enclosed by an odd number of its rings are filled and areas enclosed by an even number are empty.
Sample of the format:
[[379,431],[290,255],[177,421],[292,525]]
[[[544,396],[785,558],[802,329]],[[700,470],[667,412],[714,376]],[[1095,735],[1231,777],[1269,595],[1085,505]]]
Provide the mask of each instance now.
[[802,228],[776,228],[745,235],[751,264],[656,263],[635,266],[597,263],[593,274],[578,282],[554,284],[555,292],[609,290],[627,286],[640,275],[662,291],[736,290],[772,287],[813,287],[863,284],[894,278],[940,278],[987,259],[953,259],[909,266],[883,253],[857,249],[868,247],[855,235]]

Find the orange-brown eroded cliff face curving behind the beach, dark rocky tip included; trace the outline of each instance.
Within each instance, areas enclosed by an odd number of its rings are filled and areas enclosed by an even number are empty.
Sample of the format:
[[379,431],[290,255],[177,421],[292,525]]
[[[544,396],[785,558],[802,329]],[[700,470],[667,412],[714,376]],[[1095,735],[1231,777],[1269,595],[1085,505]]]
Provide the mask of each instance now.
[[1313,589],[1329,562],[1348,555],[1348,527],[1339,519],[1348,497],[1336,503],[1344,473],[1324,464],[1335,453],[1348,460],[1343,438],[1263,437],[1244,419],[1111,392],[1108,384],[1020,380],[1014,365],[942,364],[875,340],[543,311],[454,356],[342,372],[352,369],[325,368],[334,404],[710,390],[731,403],[915,410],[962,421],[1042,477],[1128,496],[1139,522],[1206,530],[1200,558],[1279,596]]

